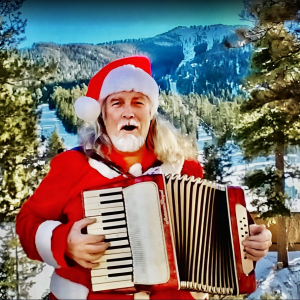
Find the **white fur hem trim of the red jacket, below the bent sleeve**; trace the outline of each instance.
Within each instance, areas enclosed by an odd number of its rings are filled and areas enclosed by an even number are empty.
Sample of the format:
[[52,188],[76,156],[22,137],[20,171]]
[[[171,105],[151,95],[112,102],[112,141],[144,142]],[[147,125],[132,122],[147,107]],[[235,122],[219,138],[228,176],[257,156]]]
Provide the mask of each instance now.
[[57,299],[87,299],[89,290],[84,285],[62,278],[54,272],[50,292]]

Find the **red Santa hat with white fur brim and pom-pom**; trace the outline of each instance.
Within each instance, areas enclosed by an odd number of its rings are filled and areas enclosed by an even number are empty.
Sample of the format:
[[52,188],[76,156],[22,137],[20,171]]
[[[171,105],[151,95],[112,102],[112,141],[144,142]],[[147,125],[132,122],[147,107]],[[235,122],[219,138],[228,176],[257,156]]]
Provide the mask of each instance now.
[[146,95],[152,103],[152,113],[157,111],[159,89],[151,76],[151,63],[147,57],[125,57],[103,67],[90,80],[86,96],[75,101],[75,112],[86,122],[96,121],[103,101],[113,93],[124,91]]

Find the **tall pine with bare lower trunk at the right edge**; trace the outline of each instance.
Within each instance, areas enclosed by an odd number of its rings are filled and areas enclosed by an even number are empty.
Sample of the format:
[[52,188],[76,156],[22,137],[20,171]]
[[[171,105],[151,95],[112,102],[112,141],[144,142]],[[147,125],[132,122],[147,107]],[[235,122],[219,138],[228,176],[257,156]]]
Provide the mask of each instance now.
[[288,145],[300,144],[300,43],[287,32],[284,22],[296,16],[300,2],[244,3],[248,15],[256,19],[256,26],[243,32],[245,39],[248,38],[246,42],[254,40],[255,44],[252,73],[245,80],[250,98],[241,106],[243,117],[237,127],[237,140],[247,160],[275,155],[272,168],[247,175],[245,184],[255,191],[253,204],[261,211],[261,216],[277,216],[278,262],[287,267],[286,216],[289,209],[284,186],[284,154]]

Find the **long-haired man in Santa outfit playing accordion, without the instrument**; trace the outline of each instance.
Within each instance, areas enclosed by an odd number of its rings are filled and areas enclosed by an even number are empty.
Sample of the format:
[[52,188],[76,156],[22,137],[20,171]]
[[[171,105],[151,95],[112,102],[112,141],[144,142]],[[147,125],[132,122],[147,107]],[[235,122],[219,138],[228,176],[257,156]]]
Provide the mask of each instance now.
[[[75,103],[82,151],[66,151],[51,162],[49,174],[17,217],[17,233],[32,259],[55,267],[52,299],[133,299],[137,295],[91,291],[90,269],[109,243],[104,236],[82,234],[95,222],[83,218],[81,193],[130,174],[187,174],[203,177],[197,151],[167,122],[157,117],[158,86],[146,57],[109,63],[90,81],[87,95]],[[95,159],[96,158],[96,159]],[[99,159],[98,159],[99,158]],[[141,199],[142,201],[143,199]],[[245,254],[265,256],[271,245],[268,230],[252,226]],[[187,291],[165,291],[152,299],[192,299]]]

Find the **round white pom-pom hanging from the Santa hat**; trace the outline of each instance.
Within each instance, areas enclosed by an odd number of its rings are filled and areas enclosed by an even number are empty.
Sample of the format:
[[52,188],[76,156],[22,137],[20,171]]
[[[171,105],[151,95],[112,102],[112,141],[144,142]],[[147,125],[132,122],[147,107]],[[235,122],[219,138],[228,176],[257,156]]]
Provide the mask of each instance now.
[[78,118],[85,122],[96,121],[101,112],[100,104],[95,99],[86,96],[79,97],[74,107]]

